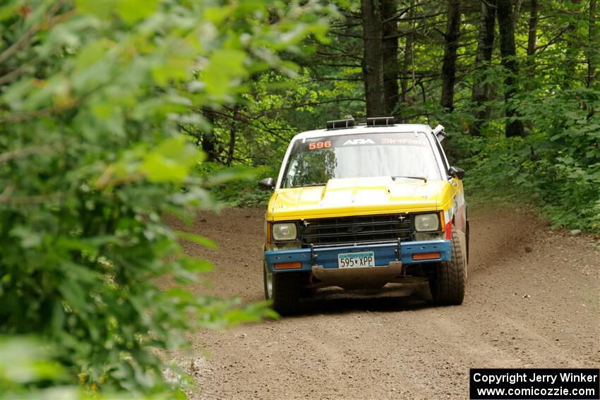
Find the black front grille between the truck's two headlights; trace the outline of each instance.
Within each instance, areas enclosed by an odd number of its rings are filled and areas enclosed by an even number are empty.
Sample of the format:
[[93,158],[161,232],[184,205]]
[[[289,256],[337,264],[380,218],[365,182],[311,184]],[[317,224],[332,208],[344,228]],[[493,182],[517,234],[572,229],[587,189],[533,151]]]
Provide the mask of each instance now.
[[299,229],[305,246],[335,245],[410,240],[412,223],[409,214],[361,215],[306,219],[300,222]]

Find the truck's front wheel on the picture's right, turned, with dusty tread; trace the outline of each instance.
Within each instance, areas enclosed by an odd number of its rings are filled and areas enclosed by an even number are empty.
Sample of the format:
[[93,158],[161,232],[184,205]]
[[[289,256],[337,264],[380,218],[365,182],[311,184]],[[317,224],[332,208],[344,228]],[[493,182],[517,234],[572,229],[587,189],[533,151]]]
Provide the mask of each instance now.
[[433,302],[438,305],[462,304],[467,260],[462,253],[460,240],[452,226],[452,260],[440,262],[429,279]]

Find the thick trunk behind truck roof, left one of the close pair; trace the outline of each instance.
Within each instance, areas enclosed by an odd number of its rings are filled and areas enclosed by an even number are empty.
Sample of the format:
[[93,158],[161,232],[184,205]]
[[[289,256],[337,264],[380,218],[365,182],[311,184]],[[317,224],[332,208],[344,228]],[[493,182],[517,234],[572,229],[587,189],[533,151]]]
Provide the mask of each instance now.
[[361,0],[364,55],[363,78],[366,116],[384,116],[385,90],[383,86],[383,21],[379,0]]

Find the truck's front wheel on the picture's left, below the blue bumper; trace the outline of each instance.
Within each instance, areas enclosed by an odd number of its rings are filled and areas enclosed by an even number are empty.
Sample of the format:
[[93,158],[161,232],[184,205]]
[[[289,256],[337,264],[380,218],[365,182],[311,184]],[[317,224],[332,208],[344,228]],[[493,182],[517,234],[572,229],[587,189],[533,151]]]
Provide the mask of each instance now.
[[298,272],[282,272],[273,274],[263,269],[265,282],[265,298],[271,300],[273,310],[281,315],[296,313],[300,301],[301,274]]

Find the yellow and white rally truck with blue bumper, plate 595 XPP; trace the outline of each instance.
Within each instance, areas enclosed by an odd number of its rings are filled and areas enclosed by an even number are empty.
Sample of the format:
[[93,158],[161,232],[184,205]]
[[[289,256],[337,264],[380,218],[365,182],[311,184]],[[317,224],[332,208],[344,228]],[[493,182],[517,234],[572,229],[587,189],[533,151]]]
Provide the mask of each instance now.
[[318,289],[428,282],[433,303],[461,304],[469,224],[464,170],[443,126],[392,117],[328,121],[296,135],[265,215],[265,297],[282,315]]

